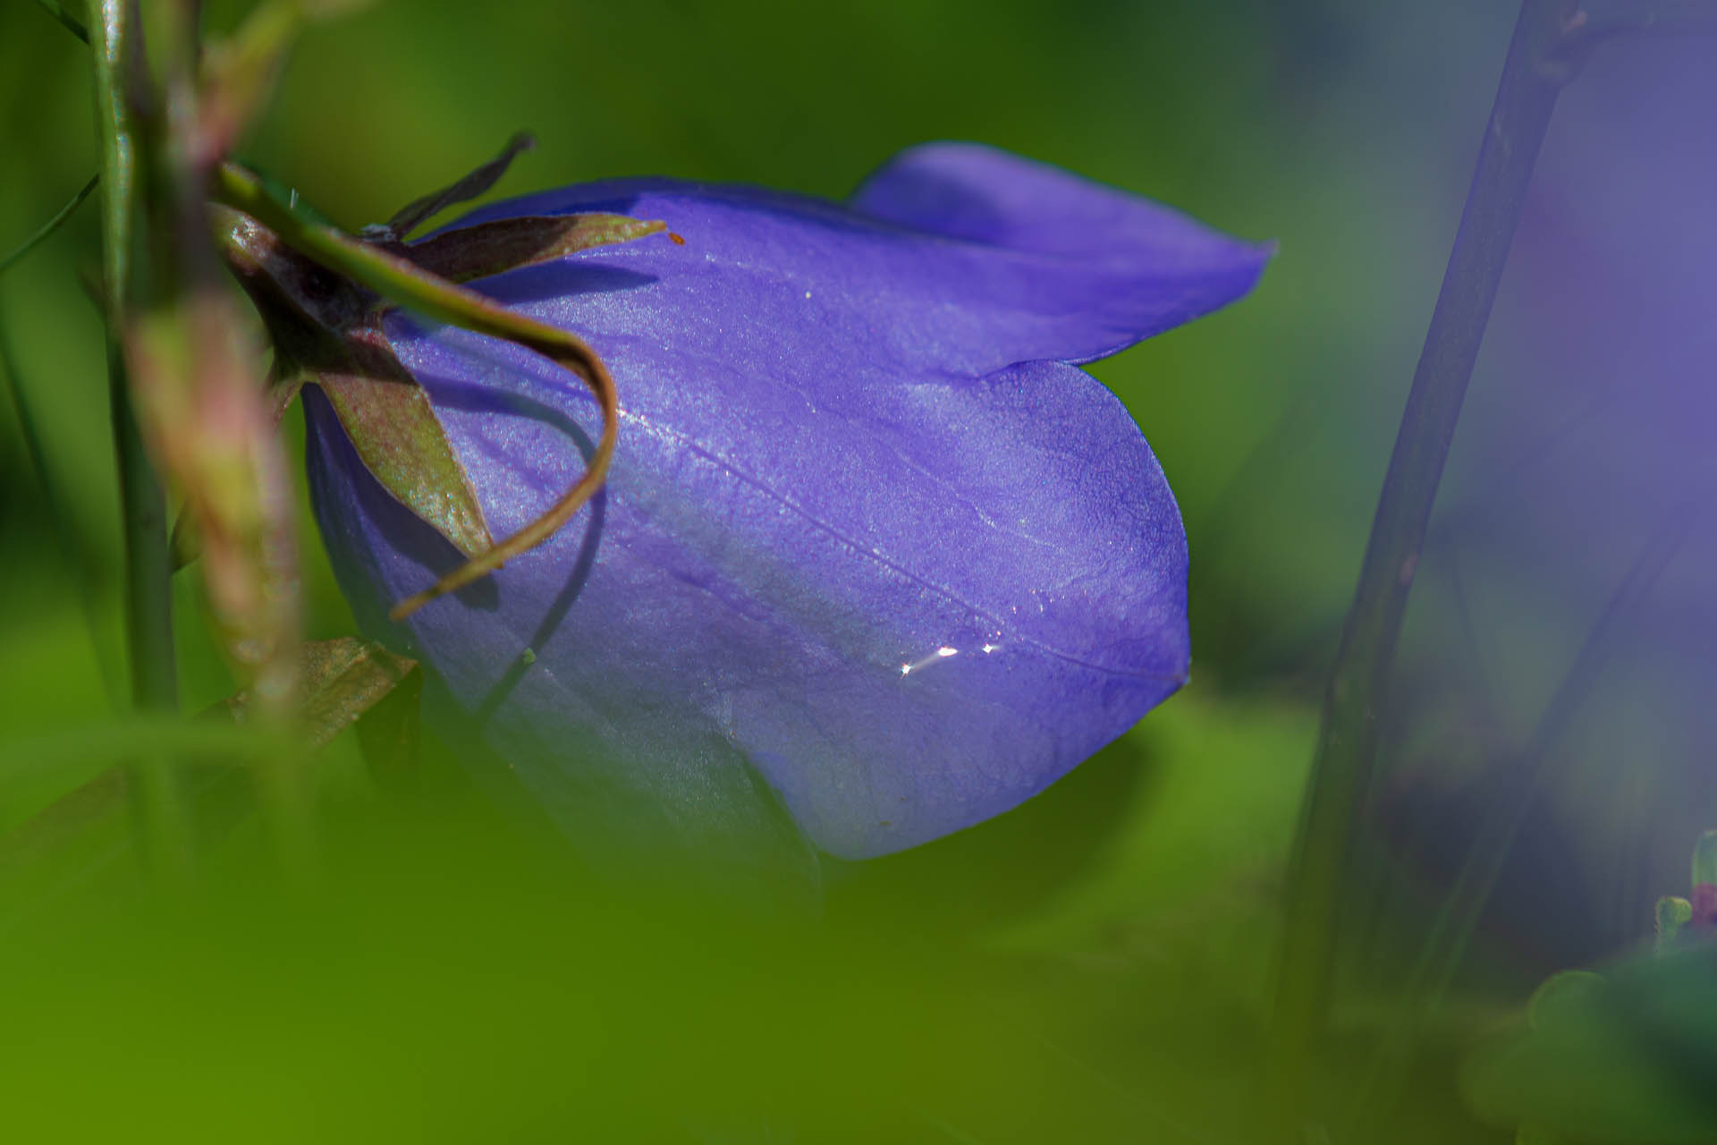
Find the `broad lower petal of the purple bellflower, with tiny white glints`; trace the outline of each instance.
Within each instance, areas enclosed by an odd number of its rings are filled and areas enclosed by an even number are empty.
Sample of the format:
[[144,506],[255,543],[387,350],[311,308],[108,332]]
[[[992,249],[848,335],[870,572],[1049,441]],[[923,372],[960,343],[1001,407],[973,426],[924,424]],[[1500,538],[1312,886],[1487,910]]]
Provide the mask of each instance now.
[[[491,527],[520,527],[582,465],[553,419],[594,429],[587,402],[512,347],[395,333]],[[676,355],[610,364],[628,409],[699,385]],[[489,724],[543,788],[594,736],[654,797],[738,790],[706,774],[709,745],[731,745],[846,858],[1013,807],[1185,678],[1180,517],[1126,410],[1078,369],[869,393],[816,415],[752,374],[723,391],[735,402],[628,412],[594,565],[558,625],[544,630],[587,522],[498,572],[493,609],[424,609],[419,654],[476,709],[532,647],[529,687]],[[802,421],[790,443],[766,427],[786,414]],[[745,424],[764,429],[738,438]],[[366,479],[345,463],[337,481]],[[385,494],[318,505],[330,548],[364,554],[342,580],[376,594],[373,618],[455,560]]]

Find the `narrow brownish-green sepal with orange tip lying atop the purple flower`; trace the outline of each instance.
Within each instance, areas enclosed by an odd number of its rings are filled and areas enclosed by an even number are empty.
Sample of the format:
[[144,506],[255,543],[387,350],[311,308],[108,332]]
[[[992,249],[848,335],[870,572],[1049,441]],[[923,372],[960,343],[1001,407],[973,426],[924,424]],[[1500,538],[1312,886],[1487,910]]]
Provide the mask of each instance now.
[[525,215],[472,227],[455,227],[414,242],[407,257],[448,282],[470,282],[534,266],[589,247],[632,242],[668,228],[658,220],[627,215]]

